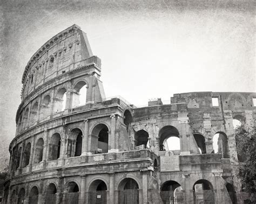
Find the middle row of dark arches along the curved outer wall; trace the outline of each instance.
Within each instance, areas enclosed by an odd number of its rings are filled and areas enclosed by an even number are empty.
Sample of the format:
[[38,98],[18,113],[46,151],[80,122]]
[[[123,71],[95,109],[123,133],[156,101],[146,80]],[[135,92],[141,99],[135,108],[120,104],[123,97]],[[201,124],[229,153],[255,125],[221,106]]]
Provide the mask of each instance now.
[[[106,153],[108,151],[109,144],[109,128],[105,124],[98,124],[93,128],[91,133],[91,147],[92,153]],[[48,144],[45,144],[43,137],[38,138],[35,141],[33,155],[31,156],[31,142],[26,143],[24,149],[22,146],[15,146],[11,153],[12,168],[17,169],[19,167],[25,167],[29,164],[39,164],[43,161],[45,146],[48,146],[48,158],[45,160],[52,161],[60,158],[62,148],[65,148],[64,157],[79,157],[82,154],[83,146],[83,132],[79,128],[74,128],[67,136],[65,147],[62,145],[62,137],[59,133],[53,133],[49,137]],[[22,159],[22,163],[21,163]],[[30,160],[32,161],[30,162]],[[20,164],[21,163],[21,164]],[[20,166],[22,165],[22,166]]]

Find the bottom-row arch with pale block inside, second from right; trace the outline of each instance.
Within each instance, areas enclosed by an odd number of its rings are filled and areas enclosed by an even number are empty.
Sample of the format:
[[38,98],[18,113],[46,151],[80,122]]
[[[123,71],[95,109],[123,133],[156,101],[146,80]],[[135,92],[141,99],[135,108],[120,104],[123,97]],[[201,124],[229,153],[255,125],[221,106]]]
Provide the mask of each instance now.
[[194,203],[212,203],[214,204],[214,193],[211,182],[201,179],[193,186]]

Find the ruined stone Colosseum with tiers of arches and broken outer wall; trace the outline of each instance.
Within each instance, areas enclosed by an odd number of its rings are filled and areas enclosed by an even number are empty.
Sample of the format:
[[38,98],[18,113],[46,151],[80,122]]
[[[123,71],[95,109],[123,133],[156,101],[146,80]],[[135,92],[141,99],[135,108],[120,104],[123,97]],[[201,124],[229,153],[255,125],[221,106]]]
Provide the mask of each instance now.
[[256,93],[181,93],[136,107],[106,98],[100,76],[77,25],[31,57],[4,203],[246,203],[233,120],[254,125]]

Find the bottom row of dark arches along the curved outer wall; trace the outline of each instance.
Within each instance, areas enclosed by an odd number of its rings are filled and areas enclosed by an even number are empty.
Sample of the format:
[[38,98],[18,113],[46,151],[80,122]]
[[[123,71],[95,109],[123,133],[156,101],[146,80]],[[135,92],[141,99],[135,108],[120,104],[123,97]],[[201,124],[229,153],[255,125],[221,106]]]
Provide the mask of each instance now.
[[[78,184],[75,181],[70,181],[65,185],[65,189],[62,195],[62,199],[57,198],[57,187],[55,184],[50,183],[43,195],[44,203],[56,203],[56,200],[62,200],[62,203],[65,204],[78,204],[82,203],[106,203],[107,202],[107,185],[103,180],[96,179],[89,186],[88,192],[81,192]],[[60,191],[59,191],[60,192]],[[81,200],[81,193],[87,194],[87,202],[85,200]],[[38,195],[39,189],[37,186],[33,186],[29,192],[28,203],[37,204],[38,203]],[[83,197],[84,198],[84,197]],[[16,195],[16,191],[13,190],[11,194],[10,203],[18,203],[22,204],[25,202],[25,188],[21,188]],[[139,203],[139,186],[138,183],[132,178],[123,179],[118,185],[118,203]]]

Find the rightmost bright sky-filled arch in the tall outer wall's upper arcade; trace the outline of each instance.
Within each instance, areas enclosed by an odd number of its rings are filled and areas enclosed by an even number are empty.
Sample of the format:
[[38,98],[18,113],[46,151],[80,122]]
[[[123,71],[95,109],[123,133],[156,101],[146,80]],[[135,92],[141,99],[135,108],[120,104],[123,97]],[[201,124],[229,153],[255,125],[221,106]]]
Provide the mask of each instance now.
[[78,107],[80,105],[86,104],[86,93],[87,85],[84,81],[79,81],[75,88],[73,89],[73,100],[72,107]]

